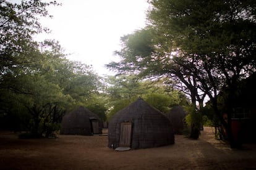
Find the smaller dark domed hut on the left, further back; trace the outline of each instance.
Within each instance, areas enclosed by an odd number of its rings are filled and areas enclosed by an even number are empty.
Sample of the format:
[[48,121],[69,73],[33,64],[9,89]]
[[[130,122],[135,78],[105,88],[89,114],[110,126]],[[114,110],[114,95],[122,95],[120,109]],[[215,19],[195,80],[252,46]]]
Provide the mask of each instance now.
[[80,106],[62,118],[61,134],[84,136],[102,134],[102,123],[98,115]]

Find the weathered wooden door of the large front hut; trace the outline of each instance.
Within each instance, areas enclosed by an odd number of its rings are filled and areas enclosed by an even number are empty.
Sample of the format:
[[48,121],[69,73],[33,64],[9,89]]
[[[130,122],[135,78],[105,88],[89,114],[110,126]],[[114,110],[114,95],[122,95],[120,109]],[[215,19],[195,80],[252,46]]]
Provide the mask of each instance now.
[[119,147],[130,147],[132,141],[132,123],[121,123]]

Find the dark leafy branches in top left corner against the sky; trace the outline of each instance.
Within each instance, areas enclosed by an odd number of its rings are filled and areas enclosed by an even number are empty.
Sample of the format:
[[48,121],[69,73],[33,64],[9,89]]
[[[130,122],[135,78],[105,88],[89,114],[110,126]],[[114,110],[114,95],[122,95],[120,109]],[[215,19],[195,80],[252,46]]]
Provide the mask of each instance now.
[[[46,10],[57,2],[22,1],[12,4],[0,2],[0,83],[12,79],[19,71],[27,69],[37,57],[33,55],[38,42],[33,41],[33,35],[48,31],[38,22],[38,17],[51,17]],[[39,57],[39,56],[38,56]],[[0,86],[1,86],[0,85]],[[4,83],[6,88],[6,84]]]

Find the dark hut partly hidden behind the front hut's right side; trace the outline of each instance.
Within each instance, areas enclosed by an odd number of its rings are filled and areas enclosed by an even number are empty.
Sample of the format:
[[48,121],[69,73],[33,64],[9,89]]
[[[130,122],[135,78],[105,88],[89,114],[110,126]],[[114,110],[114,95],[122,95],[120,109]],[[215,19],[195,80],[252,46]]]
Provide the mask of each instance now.
[[186,111],[179,105],[174,106],[167,115],[173,124],[174,134],[182,134],[184,129],[184,119],[186,117]]

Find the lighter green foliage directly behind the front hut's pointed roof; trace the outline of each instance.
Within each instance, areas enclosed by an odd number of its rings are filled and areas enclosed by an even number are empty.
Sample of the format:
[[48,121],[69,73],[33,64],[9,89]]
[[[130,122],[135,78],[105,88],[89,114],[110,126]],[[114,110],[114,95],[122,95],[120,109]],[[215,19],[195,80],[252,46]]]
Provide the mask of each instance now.
[[109,79],[110,87],[107,89],[109,96],[108,118],[117,111],[134,102],[139,97],[145,99],[151,106],[162,113],[168,113],[174,105],[187,105],[187,98],[175,89],[169,89],[163,79],[141,80],[138,76],[120,75]]

